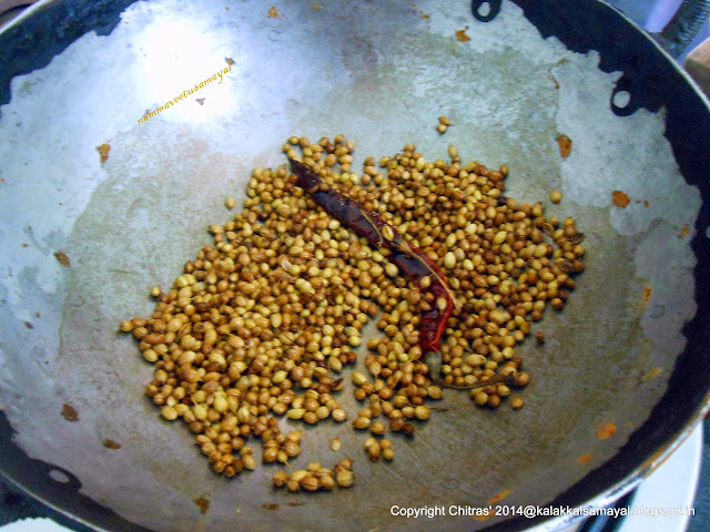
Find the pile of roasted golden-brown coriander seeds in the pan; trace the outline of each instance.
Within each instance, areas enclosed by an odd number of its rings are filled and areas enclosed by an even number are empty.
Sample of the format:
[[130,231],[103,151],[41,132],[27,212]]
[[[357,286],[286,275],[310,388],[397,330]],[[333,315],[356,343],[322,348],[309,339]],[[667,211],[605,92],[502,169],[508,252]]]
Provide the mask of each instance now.
[[[509,399],[521,408],[515,391],[530,378],[516,347],[547,307],[565,306],[584,270],[575,222],[505,197],[505,165],[463,164],[454,146],[448,161],[427,162],[407,144],[392,157],[367,157],[356,173],[353,151],[343,135],[314,144],[294,136],[284,145],[288,157],[439,265],[454,298],[440,354],[418,345],[429,294],[402,276],[386,250],[324,213],[285,165],[254,168],[243,211],[210,226],[214,245],[185,264],[170,290],[152,290],[150,317],[120,326],[154,364],[146,395],[164,419],[187,424],[216,473],[256,467],[250,439],[261,440],[264,462],[298,456],[301,433],[283,433],[281,416],[308,424],[349,419],[375,442],[387,431],[413,436],[430,417],[427,402],[443,395],[427,364],[434,357],[437,380],[448,386],[508,376],[471,389],[473,403],[497,408]],[[347,376],[371,319],[384,335],[366,342],[368,375]],[[357,412],[337,401],[346,377],[362,401]]]

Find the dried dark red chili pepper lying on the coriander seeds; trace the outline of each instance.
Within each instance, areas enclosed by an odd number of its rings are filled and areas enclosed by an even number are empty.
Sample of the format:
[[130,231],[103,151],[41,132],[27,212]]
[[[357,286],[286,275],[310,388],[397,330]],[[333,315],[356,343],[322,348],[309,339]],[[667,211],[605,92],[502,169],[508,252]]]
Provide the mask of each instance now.
[[[407,279],[417,285],[423,293],[434,296],[432,308],[424,313],[419,321],[419,347],[425,354],[438,351],[454,301],[446,277],[436,263],[422,249],[407,243],[402,234],[379,215],[367,211],[339,192],[331,190],[305,164],[294,160],[288,161],[297,177],[296,184],[304,188],[326,213],[372,245],[389,249],[392,255],[387,258],[404,272]],[[422,286],[422,279],[425,277],[430,280],[428,286]]]

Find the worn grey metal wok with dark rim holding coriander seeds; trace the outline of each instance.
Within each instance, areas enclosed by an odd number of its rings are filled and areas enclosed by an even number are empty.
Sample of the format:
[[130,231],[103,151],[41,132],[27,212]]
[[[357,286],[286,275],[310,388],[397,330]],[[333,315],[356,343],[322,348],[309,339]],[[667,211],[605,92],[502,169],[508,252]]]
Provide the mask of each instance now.
[[[390,508],[480,508],[504,492],[505,504],[595,507],[628,492],[708,410],[708,101],[596,0],[270,7],[41,2],[0,34],[3,474],[130,531],[520,530],[544,518],[414,521]],[[139,123],[225,58],[223,83]],[[439,115],[454,123],[443,136]],[[565,311],[538,324],[547,344],[520,348],[523,410],[446,390],[448,410],[395,441],[388,464],[366,460],[346,424],[304,429],[295,468],[349,456],[349,490],[275,491],[271,467],[225,480],[184,426],[159,418],[143,396],[152,368],[116,327],[152,311],[150,287],[210,242],[252,167],[284,163],[292,134],[339,132],[356,161],[407,142],[444,158],[455,144],[464,160],[506,163],[520,202],[561,190],[548,213],[587,234],[587,269]],[[355,411],[348,387],[338,400]],[[597,438],[606,423],[616,433]]]

